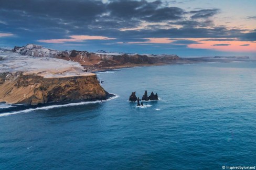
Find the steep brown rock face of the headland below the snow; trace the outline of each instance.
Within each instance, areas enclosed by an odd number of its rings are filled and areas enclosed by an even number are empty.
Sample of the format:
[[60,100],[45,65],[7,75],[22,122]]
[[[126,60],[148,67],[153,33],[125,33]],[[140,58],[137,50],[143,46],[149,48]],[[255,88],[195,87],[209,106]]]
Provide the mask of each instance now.
[[45,104],[50,101],[106,99],[109,95],[96,75],[45,78],[23,73],[0,75],[0,101],[9,104]]

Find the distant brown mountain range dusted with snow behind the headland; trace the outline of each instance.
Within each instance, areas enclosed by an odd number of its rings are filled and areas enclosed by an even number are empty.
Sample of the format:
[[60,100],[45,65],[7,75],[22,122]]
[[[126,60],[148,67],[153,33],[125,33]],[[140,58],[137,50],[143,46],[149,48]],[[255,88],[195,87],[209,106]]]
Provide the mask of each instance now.
[[58,51],[48,49],[36,44],[27,44],[23,47],[14,47],[12,50],[22,55],[37,57],[50,57],[68,61],[79,62],[88,70],[95,68],[112,68],[120,66],[148,65],[148,64],[168,64],[180,58],[177,55],[154,55],[154,54],[131,54],[120,52],[107,52],[99,50],[97,52],[88,51]]

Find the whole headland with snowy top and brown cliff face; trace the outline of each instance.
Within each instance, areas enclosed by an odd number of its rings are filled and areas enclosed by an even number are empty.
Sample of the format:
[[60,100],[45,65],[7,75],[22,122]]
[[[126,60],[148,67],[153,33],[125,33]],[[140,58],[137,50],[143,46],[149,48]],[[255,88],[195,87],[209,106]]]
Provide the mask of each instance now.
[[0,102],[45,104],[51,101],[97,100],[110,96],[97,76],[76,62],[0,52]]

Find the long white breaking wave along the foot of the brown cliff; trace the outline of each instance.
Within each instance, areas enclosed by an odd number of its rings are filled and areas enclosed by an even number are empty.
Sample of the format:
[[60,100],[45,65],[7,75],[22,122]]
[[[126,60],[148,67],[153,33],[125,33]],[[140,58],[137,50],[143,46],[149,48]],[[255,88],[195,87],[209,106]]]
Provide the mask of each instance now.
[[69,104],[65,104],[65,105],[51,105],[51,106],[44,106],[44,107],[38,107],[38,108],[31,108],[31,109],[25,109],[25,110],[19,110],[19,111],[14,111],[14,112],[6,112],[4,114],[0,114],[0,117],[4,117],[4,116],[9,116],[9,115],[15,115],[15,114],[20,114],[20,113],[27,113],[30,111],[34,111],[34,110],[49,110],[49,109],[53,109],[53,108],[61,108],[61,107],[70,107],[70,106],[79,106],[79,105],[88,105],[88,104],[95,104],[95,103],[102,103],[104,101],[109,101],[115,98],[118,98],[118,95],[115,95],[113,97],[110,97],[106,100],[97,100],[97,101],[81,101],[79,103],[69,103]]

